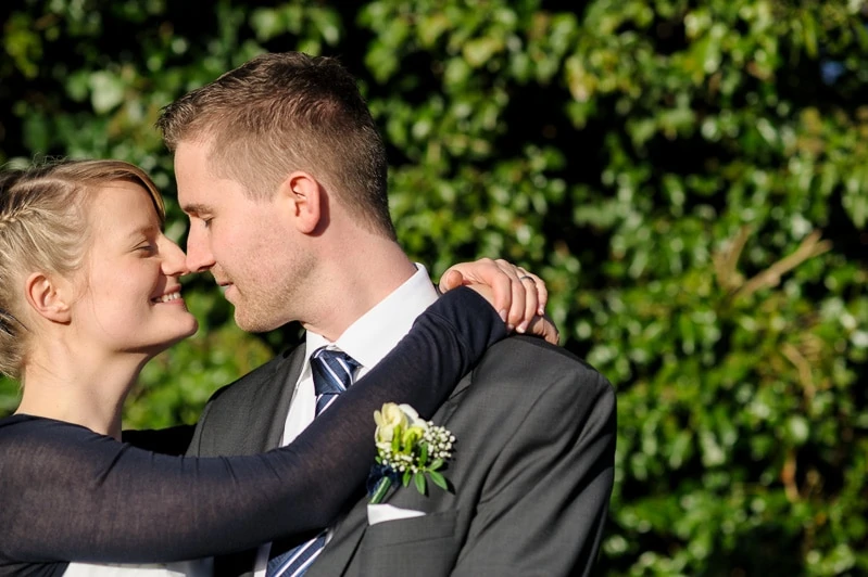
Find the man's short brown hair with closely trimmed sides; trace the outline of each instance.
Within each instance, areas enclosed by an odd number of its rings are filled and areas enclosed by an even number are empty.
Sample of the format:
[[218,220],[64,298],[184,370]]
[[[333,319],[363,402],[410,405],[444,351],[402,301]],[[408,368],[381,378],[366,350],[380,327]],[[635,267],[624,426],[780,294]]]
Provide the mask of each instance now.
[[172,151],[207,143],[213,174],[254,196],[293,170],[310,172],[370,230],[395,239],[382,139],[335,59],[262,54],[163,108],[156,126]]

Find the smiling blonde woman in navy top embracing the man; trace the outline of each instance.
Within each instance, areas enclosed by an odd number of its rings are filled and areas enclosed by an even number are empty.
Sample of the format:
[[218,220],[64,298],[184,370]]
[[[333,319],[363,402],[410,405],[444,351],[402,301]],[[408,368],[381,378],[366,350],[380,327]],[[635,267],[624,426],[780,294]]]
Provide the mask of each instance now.
[[117,441],[124,398],[197,330],[163,218],[154,184],[126,163],[0,178],[0,371],[23,385],[0,420],[0,575],[193,559],[322,528],[373,462],[373,411],[432,413],[505,334],[478,295],[452,291],[289,447],[199,460],[135,449]]

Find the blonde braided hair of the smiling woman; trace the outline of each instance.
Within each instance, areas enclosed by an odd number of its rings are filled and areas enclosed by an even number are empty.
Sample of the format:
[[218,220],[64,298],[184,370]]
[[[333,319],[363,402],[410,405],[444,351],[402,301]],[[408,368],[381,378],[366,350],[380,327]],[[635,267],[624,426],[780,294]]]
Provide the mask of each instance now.
[[156,185],[129,163],[61,161],[0,172],[0,373],[20,379],[26,360],[25,279],[36,271],[67,275],[81,267],[88,193],[115,181],[144,188],[165,220]]

